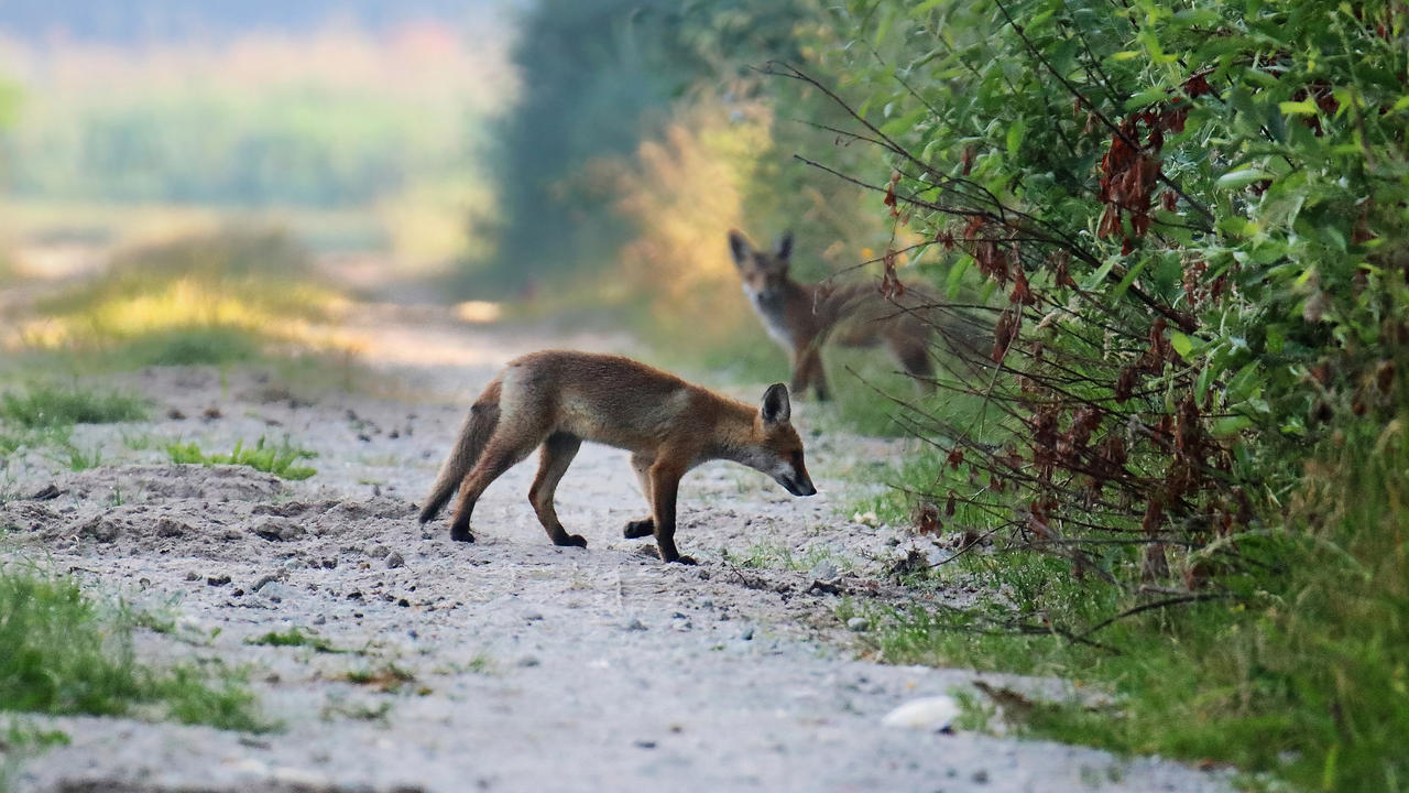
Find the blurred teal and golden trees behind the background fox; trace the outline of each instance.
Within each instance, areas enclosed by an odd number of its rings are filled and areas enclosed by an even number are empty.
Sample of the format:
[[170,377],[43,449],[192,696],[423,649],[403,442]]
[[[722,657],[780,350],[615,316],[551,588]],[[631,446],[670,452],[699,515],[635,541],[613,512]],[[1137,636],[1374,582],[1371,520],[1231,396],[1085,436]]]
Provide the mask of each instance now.
[[[807,62],[820,21],[814,0],[537,3],[513,55],[521,96],[492,157],[496,207],[472,219],[497,250],[466,271],[464,289],[644,293],[654,320],[678,322],[681,296],[737,292],[733,226],[759,238],[792,227],[802,268],[830,271],[817,254],[875,226],[845,210],[855,193],[823,198],[790,155],[820,140],[797,119],[837,110],[758,71]],[[855,261],[840,250],[833,264]]]

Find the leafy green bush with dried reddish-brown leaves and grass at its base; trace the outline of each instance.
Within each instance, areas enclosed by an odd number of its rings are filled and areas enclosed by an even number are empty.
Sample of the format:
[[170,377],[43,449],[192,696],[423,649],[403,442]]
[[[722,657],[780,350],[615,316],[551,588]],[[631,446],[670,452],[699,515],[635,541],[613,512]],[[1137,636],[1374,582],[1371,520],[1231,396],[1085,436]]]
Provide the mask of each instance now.
[[1054,735],[1402,786],[1403,7],[857,0],[834,21],[844,90],[774,71],[831,92],[885,171],[820,165],[920,234],[937,313],[993,329],[943,384],[978,416],[905,419],[940,450],[910,468],[916,525],[992,538],[961,559],[1007,603],[903,635],[960,631],[931,649],[1002,667],[1041,648],[1130,697],[1119,721],[1034,720]]

